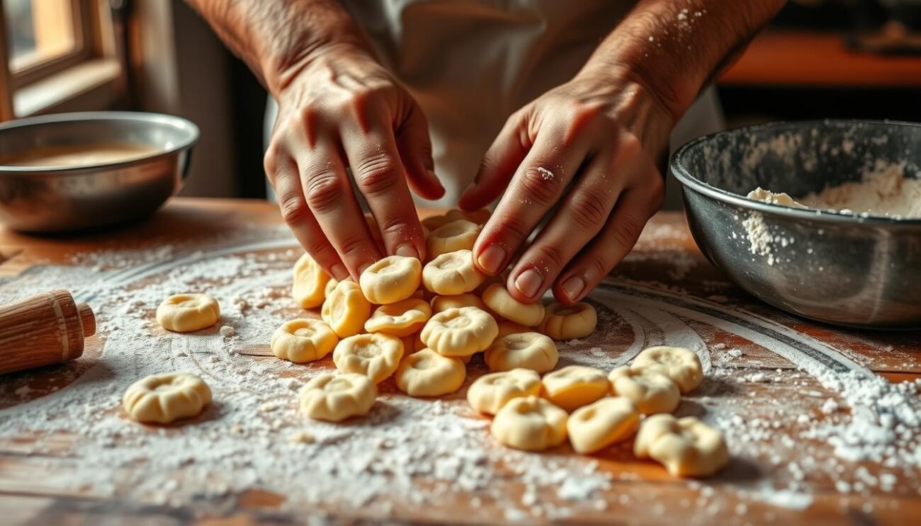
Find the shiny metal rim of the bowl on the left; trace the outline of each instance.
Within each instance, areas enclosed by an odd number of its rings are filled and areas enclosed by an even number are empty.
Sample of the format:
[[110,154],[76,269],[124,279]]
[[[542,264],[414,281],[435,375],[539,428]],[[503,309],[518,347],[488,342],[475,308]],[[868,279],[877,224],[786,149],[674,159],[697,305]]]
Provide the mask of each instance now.
[[177,115],[167,113],[156,113],[152,111],[74,111],[69,113],[51,113],[48,115],[37,115],[34,117],[24,117],[22,119],[8,120],[0,123],[0,133],[4,131],[16,130],[17,128],[29,126],[45,126],[60,122],[77,122],[77,121],[105,121],[105,120],[129,120],[134,122],[157,123],[172,126],[173,128],[185,131],[188,137],[180,143],[174,144],[170,148],[157,150],[154,154],[134,157],[125,161],[114,163],[97,163],[94,165],[79,166],[6,166],[0,165],[0,173],[6,174],[44,174],[44,175],[72,175],[74,173],[85,173],[87,170],[98,170],[99,168],[111,168],[121,166],[131,166],[134,164],[145,163],[152,159],[157,159],[169,154],[175,154],[187,150],[194,146],[201,139],[202,132],[198,126],[192,122]]

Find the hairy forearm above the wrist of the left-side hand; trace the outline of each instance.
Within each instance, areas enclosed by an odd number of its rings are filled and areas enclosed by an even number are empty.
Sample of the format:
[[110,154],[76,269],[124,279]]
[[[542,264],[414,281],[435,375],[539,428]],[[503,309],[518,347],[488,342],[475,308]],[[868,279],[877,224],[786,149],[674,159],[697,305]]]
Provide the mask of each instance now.
[[275,97],[325,47],[370,50],[336,0],[186,1]]

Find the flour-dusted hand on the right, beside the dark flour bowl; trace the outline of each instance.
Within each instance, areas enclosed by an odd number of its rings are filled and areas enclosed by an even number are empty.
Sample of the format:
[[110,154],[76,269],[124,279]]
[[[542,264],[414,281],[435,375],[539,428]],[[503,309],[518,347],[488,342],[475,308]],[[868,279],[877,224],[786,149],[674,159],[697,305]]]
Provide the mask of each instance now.
[[661,206],[655,158],[674,119],[646,86],[610,66],[583,71],[513,114],[487,151],[460,206],[482,207],[505,190],[473,254],[490,275],[520,254],[507,283],[519,301],[538,301],[551,286],[562,303],[581,300]]

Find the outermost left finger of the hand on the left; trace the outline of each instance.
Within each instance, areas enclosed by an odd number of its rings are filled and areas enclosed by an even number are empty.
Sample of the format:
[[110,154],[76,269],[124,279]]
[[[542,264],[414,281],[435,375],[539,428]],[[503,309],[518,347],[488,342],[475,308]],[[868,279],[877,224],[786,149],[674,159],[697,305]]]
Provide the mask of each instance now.
[[348,277],[348,270],[345,269],[336,250],[327,241],[320,224],[317,223],[307,206],[294,160],[284,154],[281,159],[267,156],[265,164],[266,174],[278,196],[278,206],[282,217],[291,228],[297,242],[323,269],[330,272],[332,277],[336,280],[344,280]]

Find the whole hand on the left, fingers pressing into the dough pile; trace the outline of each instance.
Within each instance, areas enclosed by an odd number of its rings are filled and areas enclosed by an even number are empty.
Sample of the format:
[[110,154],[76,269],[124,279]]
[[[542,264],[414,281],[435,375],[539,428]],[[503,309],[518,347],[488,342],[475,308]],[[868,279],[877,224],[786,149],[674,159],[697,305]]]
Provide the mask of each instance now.
[[434,200],[428,124],[413,97],[367,51],[324,48],[274,94],[278,117],[265,173],[297,240],[337,280],[379,259],[345,171],[351,166],[385,255],[426,256],[409,188]]

